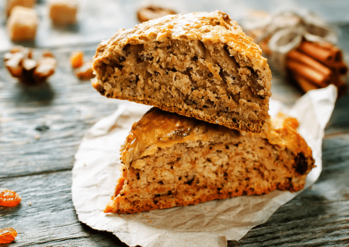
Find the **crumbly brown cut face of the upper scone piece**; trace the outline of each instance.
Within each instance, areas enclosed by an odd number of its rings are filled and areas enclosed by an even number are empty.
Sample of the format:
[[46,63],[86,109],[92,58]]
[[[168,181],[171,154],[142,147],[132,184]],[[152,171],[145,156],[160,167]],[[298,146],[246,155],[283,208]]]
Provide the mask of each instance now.
[[269,116],[270,92],[261,85],[262,71],[233,52],[224,43],[205,45],[171,36],[161,42],[126,44],[121,53],[110,56],[113,60],[95,64],[103,82],[98,90],[107,97],[192,112],[200,119],[212,116],[206,120],[260,132]]

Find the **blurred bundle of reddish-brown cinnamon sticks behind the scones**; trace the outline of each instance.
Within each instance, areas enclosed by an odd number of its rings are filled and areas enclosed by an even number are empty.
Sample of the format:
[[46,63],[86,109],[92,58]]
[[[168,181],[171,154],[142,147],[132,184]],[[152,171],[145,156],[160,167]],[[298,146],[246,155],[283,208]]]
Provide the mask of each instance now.
[[348,69],[340,49],[332,44],[302,41],[288,52],[286,69],[304,92],[329,84],[337,86],[338,97],[347,90],[344,75]]

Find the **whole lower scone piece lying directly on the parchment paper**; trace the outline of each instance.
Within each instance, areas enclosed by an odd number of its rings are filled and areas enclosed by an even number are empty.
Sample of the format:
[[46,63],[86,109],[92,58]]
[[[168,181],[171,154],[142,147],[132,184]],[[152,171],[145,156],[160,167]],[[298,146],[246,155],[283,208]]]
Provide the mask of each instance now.
[[133,213],[274,189],[297,191],[314,167],[295,118],[251,133],[150,109],[121,147],[122,175],[105,212]]

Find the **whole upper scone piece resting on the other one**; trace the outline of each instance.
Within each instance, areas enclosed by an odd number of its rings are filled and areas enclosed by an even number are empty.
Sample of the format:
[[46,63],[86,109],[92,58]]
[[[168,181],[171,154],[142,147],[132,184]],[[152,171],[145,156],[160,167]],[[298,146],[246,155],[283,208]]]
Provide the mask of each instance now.
[[261,49],[221,11],[167,15],[120,29],[93,58],[102,95],[229,128],[262,132],[271,72]]

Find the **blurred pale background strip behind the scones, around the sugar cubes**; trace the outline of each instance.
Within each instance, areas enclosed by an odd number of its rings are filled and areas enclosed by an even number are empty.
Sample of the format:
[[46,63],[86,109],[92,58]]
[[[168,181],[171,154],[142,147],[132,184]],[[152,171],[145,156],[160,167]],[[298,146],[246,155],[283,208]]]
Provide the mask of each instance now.
[[[12,46],[6,30],[7,1],[2,0],[0,5],[0,50],[8,50]],[[251,10],[275,13],[281,10],[301,12],[310,9],[329,23],[349,23],[347,0],[79,0],[76,24],[57,28],[50,21],[48,1],[37,0],[34,6],[39,17],[36,40],[27,45],[48,47],[99,42],[109,38],[119,28],[129,28],[139,23],[136,11],[149,4],[168,7],[178,13],[219,9],[238,21],[245,18]]]

